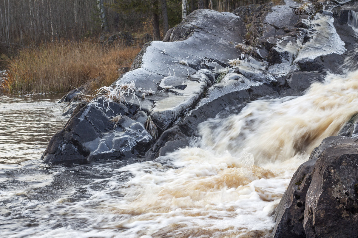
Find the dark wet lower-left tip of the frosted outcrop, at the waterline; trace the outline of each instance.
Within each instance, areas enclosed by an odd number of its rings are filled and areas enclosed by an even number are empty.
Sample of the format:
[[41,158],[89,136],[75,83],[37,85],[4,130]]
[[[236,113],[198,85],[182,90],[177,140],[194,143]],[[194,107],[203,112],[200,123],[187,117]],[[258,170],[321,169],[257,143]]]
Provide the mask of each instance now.
[[[76,107],[66,126],[50,140],[43,162],[130,158],[144,153],[151,145],[153,137],[140,118],[144,112],[136,116],[139,121],[122,116],[112,122],[110,119],[116,115],[101,107],[103,101],[83,104]],[[110,107],[122,115],[128,112],[120,103],[110,103]]]

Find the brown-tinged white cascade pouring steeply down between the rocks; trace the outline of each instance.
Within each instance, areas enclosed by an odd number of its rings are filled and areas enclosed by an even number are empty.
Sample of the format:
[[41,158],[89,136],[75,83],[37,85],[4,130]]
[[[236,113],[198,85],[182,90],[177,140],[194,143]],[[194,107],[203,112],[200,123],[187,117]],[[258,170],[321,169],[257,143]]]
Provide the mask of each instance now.
[[[335,135],[358,110],[358,77],[330,75],[311,85],[305,95],[257,100],[240,114],[215,118],[200,125],[205,145],[242,156],[250,151],[255,164],[310,153],[326,137]],[[216,135],[213,137],[212,135]]]

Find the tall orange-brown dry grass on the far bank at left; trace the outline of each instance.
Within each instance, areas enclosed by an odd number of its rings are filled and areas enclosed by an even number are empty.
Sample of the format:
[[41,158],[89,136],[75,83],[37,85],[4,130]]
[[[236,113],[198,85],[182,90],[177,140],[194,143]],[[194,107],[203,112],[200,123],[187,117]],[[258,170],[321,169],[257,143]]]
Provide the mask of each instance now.
[[139,51],[139,46],[104,46],[89,39],[22,49],[8,61],[3,87],[10,93],[67,92],[97,79],[94,90],[115,81],[118,69],[130,67]]

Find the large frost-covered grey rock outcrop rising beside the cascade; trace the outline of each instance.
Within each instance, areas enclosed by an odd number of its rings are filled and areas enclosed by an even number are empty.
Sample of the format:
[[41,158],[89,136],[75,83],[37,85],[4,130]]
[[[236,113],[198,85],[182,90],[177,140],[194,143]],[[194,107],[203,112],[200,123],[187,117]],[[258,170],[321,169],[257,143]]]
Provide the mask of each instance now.
[[210,117],[240,111],[263,96],[300,95],[325,71],[337,72],[345,47],[357,41],[344,23],[350,18],[333,14],[332,7],[320,11],[321,3],[303,12],[296,1],[282,3],[233,13],[194,11],[164,41],[146,43],[130,71],[97,98],[78,105],[72,100],[72,116],[43,161],[162,156],[187,146]]

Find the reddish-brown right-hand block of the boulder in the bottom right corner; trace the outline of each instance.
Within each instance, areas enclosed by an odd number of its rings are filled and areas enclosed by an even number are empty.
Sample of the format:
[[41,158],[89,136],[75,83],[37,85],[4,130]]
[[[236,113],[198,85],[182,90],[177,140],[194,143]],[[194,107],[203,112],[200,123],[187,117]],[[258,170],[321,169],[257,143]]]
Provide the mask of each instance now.
[[306,195],[306,237],[358,237],[357,166],[355,139],[322,152]]

